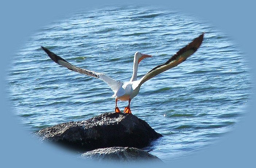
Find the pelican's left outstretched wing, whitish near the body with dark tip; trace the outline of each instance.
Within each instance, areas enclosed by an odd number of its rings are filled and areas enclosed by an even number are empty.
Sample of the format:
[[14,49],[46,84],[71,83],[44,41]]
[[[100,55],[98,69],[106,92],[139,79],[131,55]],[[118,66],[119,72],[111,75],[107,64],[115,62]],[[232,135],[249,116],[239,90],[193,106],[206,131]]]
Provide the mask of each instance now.
[[61,58],[60,56],[54,54],[53,52],[47,50],[45,47],[42,47],[43,50],[48,54],[48,56],[59,65],[62,65],[66,67],[67,69],[71,71],[75,71],[81,74],[85,74],[94,78],[99,78],[102,81],[106,82],[108,86],[113,90],[114,93],[123,85],[123,82],[115,81],[114,79],[106,76],[105,74],[97,73],[94,71],[85,70],[79,67],[76,67],[74,65],[71,65],[69,62],[67,62],[65,59]]

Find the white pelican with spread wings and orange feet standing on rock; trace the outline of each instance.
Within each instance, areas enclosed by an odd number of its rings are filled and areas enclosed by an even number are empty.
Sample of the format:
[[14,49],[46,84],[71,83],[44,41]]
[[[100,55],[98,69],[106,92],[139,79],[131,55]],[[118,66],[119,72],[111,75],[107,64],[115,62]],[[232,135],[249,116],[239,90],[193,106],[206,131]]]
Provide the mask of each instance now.
[[141,54],[140,52],[135,52],[134,59],[133,59],[133,73],[130,81],[128,82],[119,82],[115,81],[114,79],[108,77],[105,74],[97,73],[90,70],[85,70],[79,67],[76,67],[74,65],[71,65],[69,62],[67,62],[65,59],[61,58],[60,56],[54,54],[53,52],[47,50],[45,47],[42,47],[42,49],[48,54],[48,56],[59,65],[62,65],[66,67],[69,70],[85,74],[94,78],[99,78],[102,81],[106,82],[108,86],[112,89],[114,92],[113,98],[115,98],[115,112],[120,113],[119,108],[117,107],[117,101],[128,101],[128,106],[124,108],[124,113],[130,113],[130,103],[132,98],[134,98],[140,90],[140,86],[148,81],[149,79],[155,77],[156,75],[171,69],[172,67],[177,66],[178,64],[182,63],[184,60],[186,60],[190,55],[192,55],[199,46],[201,45],[203,41],[203,35],[202,33],[200,36],[195,38],[192,42],[187,44],[187,46],[181,48],[176,54],[174,54],[167,62],[158,65],[154,67],[152,70],[148,71],[142,78],[137,80],[137,69],[140,61],[144,58],[151,57],[151,55],[147,54]]

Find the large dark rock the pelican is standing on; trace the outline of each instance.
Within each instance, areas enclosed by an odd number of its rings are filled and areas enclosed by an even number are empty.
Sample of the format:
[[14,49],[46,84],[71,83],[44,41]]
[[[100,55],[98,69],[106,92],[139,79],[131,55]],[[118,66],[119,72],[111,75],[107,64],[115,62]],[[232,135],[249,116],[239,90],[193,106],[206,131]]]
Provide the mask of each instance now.
[[43,141],[79,151],[112,146],[143,148],[162,137],[147,122],[132,114],[103,113],[85,121],[67,122],[36,132]]

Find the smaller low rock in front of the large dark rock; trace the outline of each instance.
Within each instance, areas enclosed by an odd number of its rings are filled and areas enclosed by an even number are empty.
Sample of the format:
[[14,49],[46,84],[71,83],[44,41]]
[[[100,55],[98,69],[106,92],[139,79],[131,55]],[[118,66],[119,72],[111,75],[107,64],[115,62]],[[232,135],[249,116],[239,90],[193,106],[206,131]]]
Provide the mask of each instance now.
[[97,161],[117,161],[117,162],[137,162],[152,161],[162,162],[158,157],[137,148],[129,147],[110,147],[100,148],[85,152],[81,155],[84,159]]

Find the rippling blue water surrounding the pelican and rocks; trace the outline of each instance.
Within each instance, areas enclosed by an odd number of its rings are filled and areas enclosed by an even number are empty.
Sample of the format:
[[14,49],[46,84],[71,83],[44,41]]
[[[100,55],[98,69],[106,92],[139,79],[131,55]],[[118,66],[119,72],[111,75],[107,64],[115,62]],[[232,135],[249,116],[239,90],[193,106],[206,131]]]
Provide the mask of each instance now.
[[[202,32],[205,39],[195,54],[144,83],[131,102],[132,113],[163,135],[146,151],[163,161],[192,155],[239,126],[252,83],[239,42],[182,12],[104,7],[50,22],[31,34],[9,66],[13,113],[34,132],[114,110],[106,83],[57,65],[40,46],[78,67],[129,81],[136,51],[153,55],[141,61],[140,78]],[[127,103],[119,102],[119,108]]]

